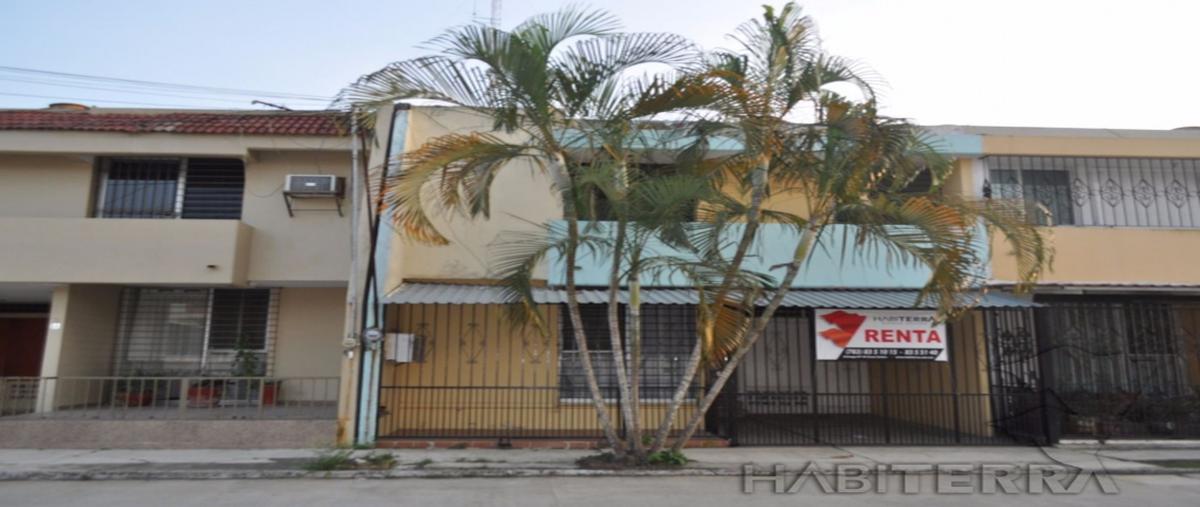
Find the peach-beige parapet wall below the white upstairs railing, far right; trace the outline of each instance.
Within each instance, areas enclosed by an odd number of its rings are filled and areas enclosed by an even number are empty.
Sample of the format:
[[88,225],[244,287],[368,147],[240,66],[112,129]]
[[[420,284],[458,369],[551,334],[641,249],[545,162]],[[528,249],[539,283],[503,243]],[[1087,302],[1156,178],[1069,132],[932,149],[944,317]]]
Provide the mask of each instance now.
[[[1040,282],[1200,285],[1200,231],[1135,227],[1049,227],[1054,266]],[[992,238],[992,279],[1016,280],[1012,249]]]

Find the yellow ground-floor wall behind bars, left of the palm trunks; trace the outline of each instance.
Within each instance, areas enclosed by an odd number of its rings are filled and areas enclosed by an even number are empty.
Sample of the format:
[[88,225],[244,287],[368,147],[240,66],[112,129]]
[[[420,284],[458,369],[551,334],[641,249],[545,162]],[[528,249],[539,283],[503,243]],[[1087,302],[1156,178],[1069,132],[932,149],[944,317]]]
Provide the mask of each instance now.
[[[584,431],[599,436],[595,410],[558,393],[558,312],[544,309],[553,334],[514,328],[499,305],[390,306],[388,330],[422,336],[421,363],[384,363],[380,436]],[[643,427],[665,406],[643,402]],[[610,406],[616,419],[616,406]],[[691,410],[680,411],[676,427]]]

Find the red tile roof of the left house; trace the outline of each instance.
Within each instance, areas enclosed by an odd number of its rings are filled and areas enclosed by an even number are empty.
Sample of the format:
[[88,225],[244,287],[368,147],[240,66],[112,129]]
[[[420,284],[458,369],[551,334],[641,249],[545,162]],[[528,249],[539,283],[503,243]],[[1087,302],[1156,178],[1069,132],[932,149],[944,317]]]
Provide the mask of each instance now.
[[226,136],[346,136],[338,112],[108,113],[96,111],[0,111],[0,131],[206,133]]

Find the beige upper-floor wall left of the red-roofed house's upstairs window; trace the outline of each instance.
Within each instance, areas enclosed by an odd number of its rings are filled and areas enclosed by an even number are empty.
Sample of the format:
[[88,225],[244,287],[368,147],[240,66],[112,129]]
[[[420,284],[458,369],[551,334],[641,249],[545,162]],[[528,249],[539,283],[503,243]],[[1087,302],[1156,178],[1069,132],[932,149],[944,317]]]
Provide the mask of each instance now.
[[0,216],[88,216],[91,178],[88,156],[0,154]]

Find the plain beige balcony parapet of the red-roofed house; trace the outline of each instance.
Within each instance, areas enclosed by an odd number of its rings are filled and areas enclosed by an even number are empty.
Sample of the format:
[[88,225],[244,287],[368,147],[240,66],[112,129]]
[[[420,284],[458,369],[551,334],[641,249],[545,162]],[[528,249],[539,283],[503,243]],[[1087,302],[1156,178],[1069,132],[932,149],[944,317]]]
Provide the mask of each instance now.
[[239,220],[0,219],[0,282],[241,285]]

